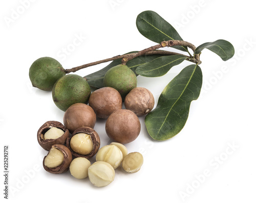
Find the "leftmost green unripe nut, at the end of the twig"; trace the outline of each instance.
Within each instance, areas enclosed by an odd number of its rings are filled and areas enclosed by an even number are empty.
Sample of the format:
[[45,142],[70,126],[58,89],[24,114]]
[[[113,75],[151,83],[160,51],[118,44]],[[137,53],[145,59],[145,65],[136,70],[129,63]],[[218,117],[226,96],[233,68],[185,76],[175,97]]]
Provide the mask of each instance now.
[[29,78],[33,87],[50,91],[55,82],[65,75],[65,69],[53,58],[42,57],[32,63]]

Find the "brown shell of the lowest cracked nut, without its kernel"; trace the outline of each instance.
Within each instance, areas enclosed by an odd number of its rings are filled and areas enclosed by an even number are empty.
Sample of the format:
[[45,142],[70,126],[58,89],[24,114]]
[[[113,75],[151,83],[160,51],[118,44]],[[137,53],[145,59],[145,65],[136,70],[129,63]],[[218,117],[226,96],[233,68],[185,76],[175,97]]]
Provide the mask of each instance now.
[[66,147],[65,145],[62,145],[62,144],[54,144],[54,145],[52,145],[52,147],[59,149],[63,153],[64,160],[63,160],[62,164],[60,164],[59,166],[54,167],[54,168],[49,168],[49,167],[45,166],[45,159],[47,157],[47,156],[45,156],[44,160],[42,161],[42,165],[44,166],[44,169],[47,172],[54,173],[54,174],[66,172],[67,170],[69,170],[69,166],[72,161],[71,151],[69,150],[68,147]]

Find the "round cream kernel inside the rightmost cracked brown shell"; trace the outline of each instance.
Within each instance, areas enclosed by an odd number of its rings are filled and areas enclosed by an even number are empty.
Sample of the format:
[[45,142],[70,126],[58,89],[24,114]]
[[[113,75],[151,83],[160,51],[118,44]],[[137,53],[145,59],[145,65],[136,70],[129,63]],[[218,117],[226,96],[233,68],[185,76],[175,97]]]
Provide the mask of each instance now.
[[93,150],[91,136],[86,133],[75,134],[70,140],[70,147],[80,155],[88,155]]

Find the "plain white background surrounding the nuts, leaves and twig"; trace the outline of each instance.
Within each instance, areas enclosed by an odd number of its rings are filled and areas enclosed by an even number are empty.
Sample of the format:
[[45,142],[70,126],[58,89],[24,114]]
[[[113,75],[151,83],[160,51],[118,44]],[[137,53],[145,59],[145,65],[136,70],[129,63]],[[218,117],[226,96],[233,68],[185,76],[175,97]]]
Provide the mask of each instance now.
[[[0,4],[0,129],[2,153],[4,145],[9,146],[9,202],[255,202],[256,29],[251,1],[15,0]],[[94,187],[89,179],[76,180],[69,171],[46,172],[42,159],[47,151],[37,143],[36,133],[48,120],[62,122],[64,112],[54,105],[51,92],[31,86],[30,65],[48,56],[72,68],[155,45],[136,28],[136,17],[145,10],[161,15],[185,41],[198,46],[225,39],[236,54],[224,62],[203,51],[202,92],[191,103],[186,125],[177,136],[153,141],[140,117],[139,137],[126,144],[129,152],[144,156],[139,172],[117,169],[114,182],[103,188]],[[157,103],[162,89],[188,64],[161,78],[138,77],[138,86],[151,90]],[[85,76],[105,65],[76,74]],[[104,122],[95,125],[101,146],[110,142]]]

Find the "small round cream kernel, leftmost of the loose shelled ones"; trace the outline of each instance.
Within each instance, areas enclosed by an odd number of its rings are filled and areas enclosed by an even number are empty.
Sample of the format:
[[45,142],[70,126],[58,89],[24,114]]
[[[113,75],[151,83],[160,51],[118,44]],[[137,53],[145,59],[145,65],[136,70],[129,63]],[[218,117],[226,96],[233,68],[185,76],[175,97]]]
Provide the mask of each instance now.
[[73,159],[69,166],[71,175],[76,179],[85,179],[88,176],[88,168],[91,166],[91,162],[83,157]]

